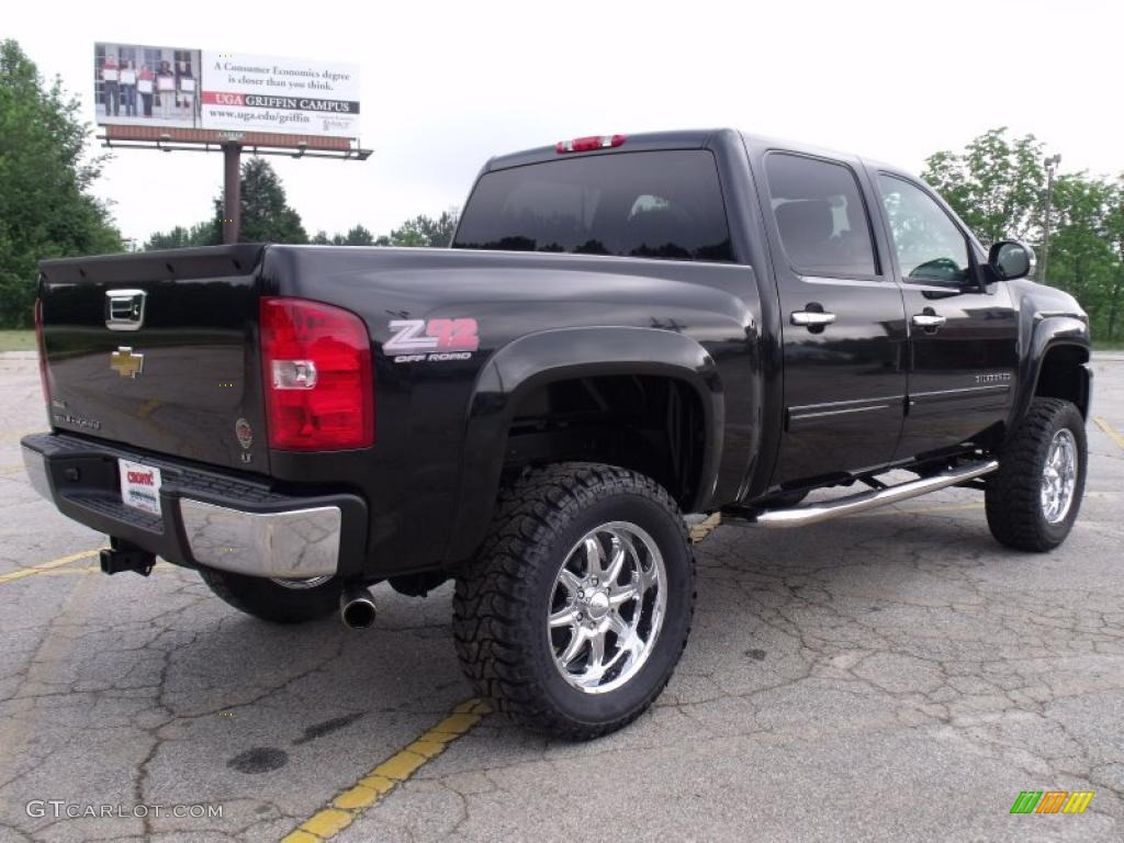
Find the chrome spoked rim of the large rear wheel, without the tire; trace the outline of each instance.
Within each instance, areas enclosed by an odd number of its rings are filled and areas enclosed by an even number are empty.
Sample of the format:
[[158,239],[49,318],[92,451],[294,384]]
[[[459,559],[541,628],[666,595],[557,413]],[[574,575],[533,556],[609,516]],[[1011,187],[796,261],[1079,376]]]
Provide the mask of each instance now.
[[663,626],[668,574],[652,537],[611,522],[579,541],[554,579],[546,634],[573,688],[605,694],[644,667]]

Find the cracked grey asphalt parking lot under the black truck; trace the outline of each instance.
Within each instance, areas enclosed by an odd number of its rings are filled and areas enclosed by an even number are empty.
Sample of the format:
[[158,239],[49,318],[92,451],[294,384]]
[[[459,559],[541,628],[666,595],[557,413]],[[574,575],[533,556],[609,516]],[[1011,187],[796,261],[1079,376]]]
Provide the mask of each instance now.
[[[34,357],[0,356],[0,841],[1124,839],[1124,355],[1095,369],[1060,550],[1000,547],[969,490],[719,526],[656,707],[562,744],[471,701],[448,587],[381,586],[348,632],[269,626],[166,563],[101,575],[103,537],[22,475]],[[1095,796],[1010,814],[1024,790]]]

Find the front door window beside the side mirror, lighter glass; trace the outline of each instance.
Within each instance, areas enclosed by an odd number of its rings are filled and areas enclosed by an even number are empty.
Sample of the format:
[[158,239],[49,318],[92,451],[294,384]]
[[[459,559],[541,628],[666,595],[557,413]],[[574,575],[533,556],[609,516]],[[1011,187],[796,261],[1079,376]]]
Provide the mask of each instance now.
[[921,188],[880,173],[878,188],[905,281],[949,287],[971,274],[968,241],[944,209]]

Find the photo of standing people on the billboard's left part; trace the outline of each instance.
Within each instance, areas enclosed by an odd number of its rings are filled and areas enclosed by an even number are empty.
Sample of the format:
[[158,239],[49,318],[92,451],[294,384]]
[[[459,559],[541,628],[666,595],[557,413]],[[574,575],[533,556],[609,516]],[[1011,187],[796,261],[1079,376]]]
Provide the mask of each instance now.
[[199,128],[199,72],[198,49],[99,42],[94,119],[100,126]]

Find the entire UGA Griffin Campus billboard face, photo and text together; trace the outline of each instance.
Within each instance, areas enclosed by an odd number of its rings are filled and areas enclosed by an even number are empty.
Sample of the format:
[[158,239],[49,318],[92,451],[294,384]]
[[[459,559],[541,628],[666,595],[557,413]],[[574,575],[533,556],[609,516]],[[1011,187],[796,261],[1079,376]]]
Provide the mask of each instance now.
[[97,123],[359,137],[359,67],[244,53],[94,45]]

